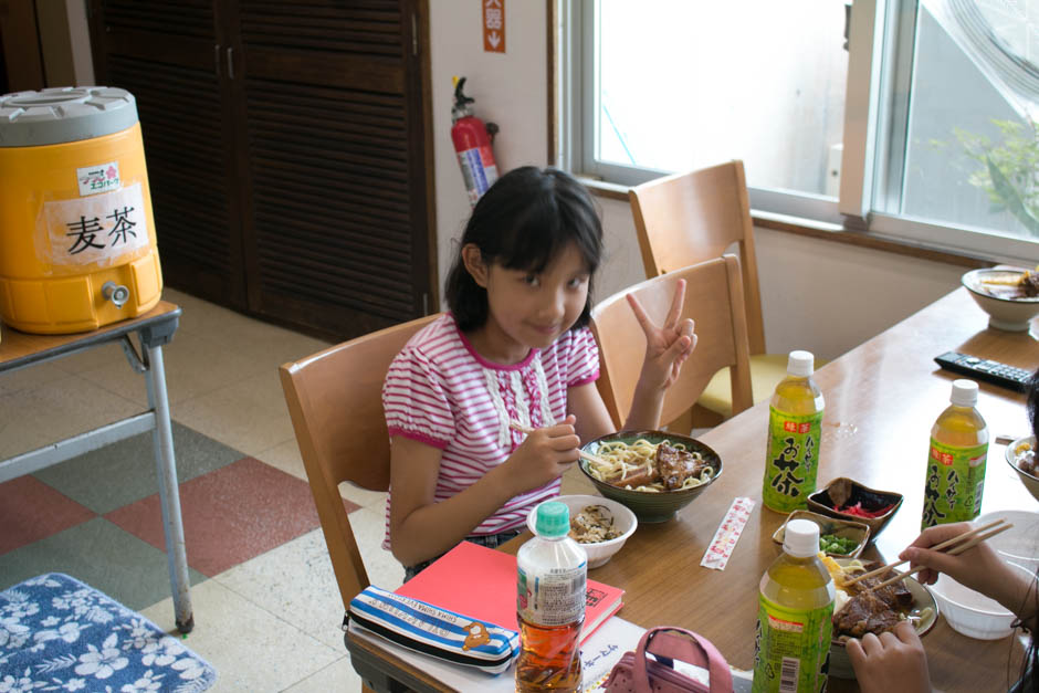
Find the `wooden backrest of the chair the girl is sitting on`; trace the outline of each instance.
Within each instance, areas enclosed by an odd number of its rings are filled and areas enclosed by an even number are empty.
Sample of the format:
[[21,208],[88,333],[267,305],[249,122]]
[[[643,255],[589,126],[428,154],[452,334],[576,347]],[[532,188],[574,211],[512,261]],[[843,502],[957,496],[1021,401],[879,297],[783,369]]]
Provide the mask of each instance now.
[[397,353],[435,317],[395,325],[279,368],[344,608],[370,582],[339,484],[389,489],[382,381]]

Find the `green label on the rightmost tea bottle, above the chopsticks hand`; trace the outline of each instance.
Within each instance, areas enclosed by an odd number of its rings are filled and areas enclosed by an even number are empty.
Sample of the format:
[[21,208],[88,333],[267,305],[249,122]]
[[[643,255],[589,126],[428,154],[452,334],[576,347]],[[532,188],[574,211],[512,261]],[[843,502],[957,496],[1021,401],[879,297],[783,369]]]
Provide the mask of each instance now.
[[959,448],[931,439],[922,529],[974,519],[980,514],[987,455],[988,443]]

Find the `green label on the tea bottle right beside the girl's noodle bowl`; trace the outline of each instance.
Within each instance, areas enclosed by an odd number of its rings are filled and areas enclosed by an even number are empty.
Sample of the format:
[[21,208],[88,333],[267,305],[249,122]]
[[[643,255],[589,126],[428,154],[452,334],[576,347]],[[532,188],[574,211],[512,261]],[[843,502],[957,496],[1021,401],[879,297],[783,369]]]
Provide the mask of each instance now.
[[768,456],[762,498],[768,507],[788,513],[808,506],[819,471],[822,412],[790,414],[768,408]]

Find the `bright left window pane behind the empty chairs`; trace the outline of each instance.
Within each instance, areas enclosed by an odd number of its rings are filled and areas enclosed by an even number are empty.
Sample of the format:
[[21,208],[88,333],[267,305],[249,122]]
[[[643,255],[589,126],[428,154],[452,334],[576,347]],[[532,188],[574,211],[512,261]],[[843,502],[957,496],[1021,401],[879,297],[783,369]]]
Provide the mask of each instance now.
[[680,171],[739,158],[752,188],[836,197],[844,3],[797,6],[599,0],[586,169]]

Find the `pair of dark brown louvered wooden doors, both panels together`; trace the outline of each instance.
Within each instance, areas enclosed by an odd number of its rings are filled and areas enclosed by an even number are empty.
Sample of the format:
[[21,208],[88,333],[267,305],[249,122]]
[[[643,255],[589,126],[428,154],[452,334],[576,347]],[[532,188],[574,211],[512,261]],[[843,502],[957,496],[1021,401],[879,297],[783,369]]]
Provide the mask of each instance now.
[[[138,98],[170,285],[337,338],[434,305],[427,0],[92,1],[98,74]],[[201,90],[176,119],[167,81]],[[182,185],[191,164],[214,185]],[[212,248],[164,245],[212,198]]]

